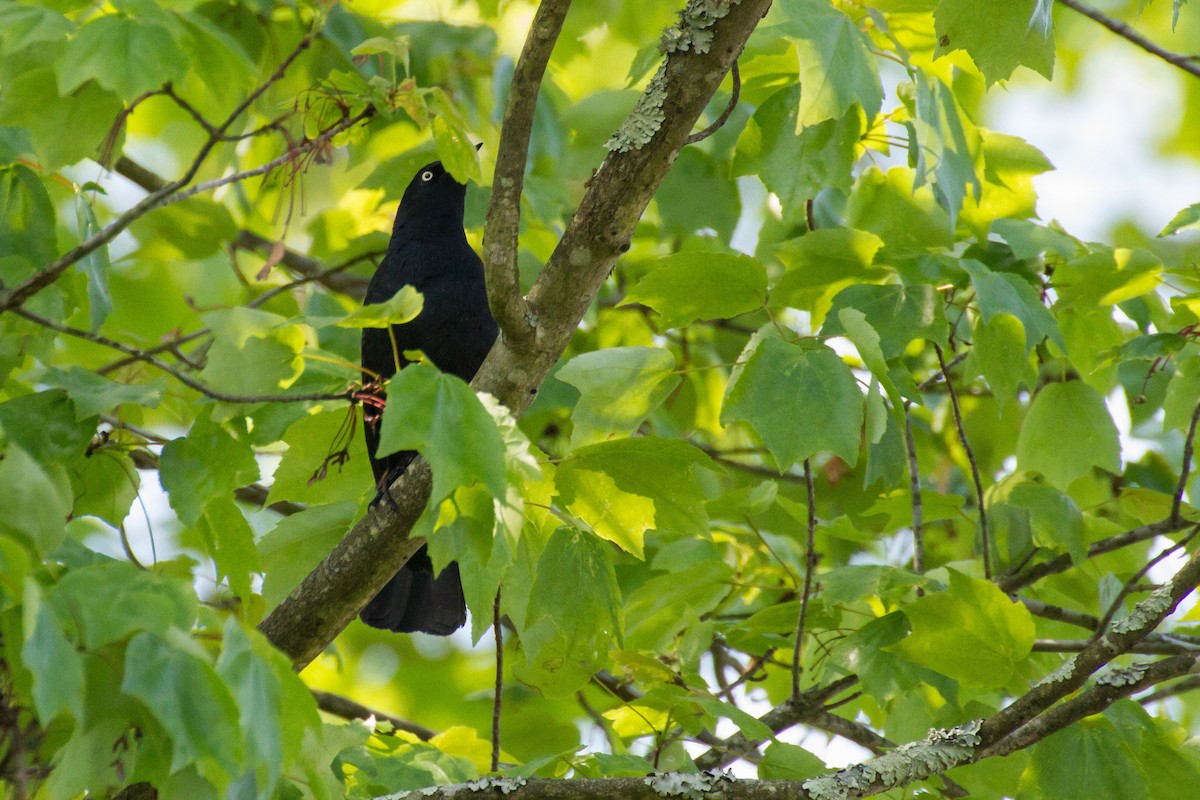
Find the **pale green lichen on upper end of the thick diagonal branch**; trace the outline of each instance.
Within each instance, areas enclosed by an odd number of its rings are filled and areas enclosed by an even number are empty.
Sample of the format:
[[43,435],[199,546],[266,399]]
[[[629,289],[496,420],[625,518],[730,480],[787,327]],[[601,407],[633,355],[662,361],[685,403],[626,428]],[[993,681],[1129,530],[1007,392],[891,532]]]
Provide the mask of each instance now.
[[[708,53],[713,44],[713,25],[740,0],[688,0],[679,12],[679,20],[662,32],[659,50],[671,56],[672,53],[694,50]],[[666,120],[662,103],[667,97],[666,61],[650,78],[649,85],[637,104],[629,113],[624,125],[605,143],[605,148],[616,152],[640,150],[654,138]]]

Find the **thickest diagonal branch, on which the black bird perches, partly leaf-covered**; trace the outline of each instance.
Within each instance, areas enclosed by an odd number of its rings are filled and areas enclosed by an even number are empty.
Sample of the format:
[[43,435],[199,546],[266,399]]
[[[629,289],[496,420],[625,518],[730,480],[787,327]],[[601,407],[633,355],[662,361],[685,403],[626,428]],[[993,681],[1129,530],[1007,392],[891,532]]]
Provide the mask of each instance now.
[[[629,248],[634,227],[688,133],[769,6],[770,0],[718,6],[701,37],[708,42],[704,52],[677,46],[667,56],[661,82],[638,103],[643,110],[654,103],[661,121],[643,144],[613,150],[596,170],[529,291],[538,320],[533,341],[517,348],[500,337],[472,381],[476,390],[499,398],[516,415],[529,405],[617,258]],[[724,16],[713,19],[716,13]],[[296,667],[312,661],[416,549],[419,542],[408,535],[430,486],[428,465],[418,459],[392,486],[397,507],[380,503],[367,513],[259,625]]]

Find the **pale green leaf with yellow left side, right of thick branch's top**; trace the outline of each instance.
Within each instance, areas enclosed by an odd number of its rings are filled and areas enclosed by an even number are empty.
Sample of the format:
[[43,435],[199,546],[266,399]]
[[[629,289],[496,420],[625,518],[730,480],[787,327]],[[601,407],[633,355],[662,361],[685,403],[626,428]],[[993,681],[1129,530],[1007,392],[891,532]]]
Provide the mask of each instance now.
[[796,41],[800,126],[839,118],[854,103],[874,119],[883,104],[883,86],[869,40],[858,25],[824,0],[797,0],[784,11],[787,22],[772,32]]

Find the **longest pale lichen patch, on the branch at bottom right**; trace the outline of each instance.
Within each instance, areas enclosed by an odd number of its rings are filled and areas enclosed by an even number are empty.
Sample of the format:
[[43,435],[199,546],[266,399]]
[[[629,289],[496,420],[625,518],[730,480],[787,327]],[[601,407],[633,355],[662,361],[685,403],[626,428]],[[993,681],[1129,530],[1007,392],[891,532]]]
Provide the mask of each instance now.
[[949,730],[935,729],[923,741],[910,741],[890,753],[804,782],[812,800],[846,800],[876,782],[896,787],[923,781],[968,760],[979,746],[979,720]]

